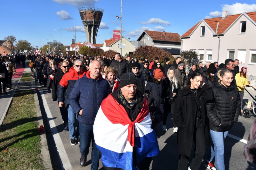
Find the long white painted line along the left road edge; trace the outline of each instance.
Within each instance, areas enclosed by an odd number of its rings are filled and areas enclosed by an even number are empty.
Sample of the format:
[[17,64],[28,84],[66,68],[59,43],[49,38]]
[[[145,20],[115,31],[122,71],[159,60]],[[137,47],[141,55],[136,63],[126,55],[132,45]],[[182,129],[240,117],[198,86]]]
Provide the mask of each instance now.
[[[38,89],[38,90],[40,91],[40,94],[41,94],[42,99],[43,99],[44,109],[45,109],[46,115],[47,115],[48,118],[52,118],[52,113],[50,111],[50,108],[47,105],[46,99],[44,97],[44,92],[41,89]],[[59,155],[60,155],[60,159],[61,159],[63,168],[64,169],[72,169],[71,163],[70,163],[70,161],[68,159],[67,152],[66,152],[66,150],[65,150],[65,148],[63,146],[63,143],[61,141],[59,132],[57,131],[55,122],[53,121],[53,119],[52,120],[48,119],[48,121],[49,121],[49,124],[50,124],[50,127],[51,127],[51,131],[54,134],[53,138],[54,138],[56,147],[58,149],[58,152],[59,152]]]

